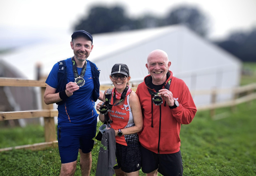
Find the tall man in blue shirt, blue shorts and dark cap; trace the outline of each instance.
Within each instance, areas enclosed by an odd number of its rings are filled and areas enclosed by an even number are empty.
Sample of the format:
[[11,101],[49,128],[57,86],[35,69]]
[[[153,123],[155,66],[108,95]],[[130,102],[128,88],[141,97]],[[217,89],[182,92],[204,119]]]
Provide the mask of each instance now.
[[[56,63],[46,80],[44,101],[58,105],[58,144],[61,158],[60,176],[74,176],[78,151],[82,176],[89,176],[91,171],[92,138],[96,135],[97,112],[95,101],[102,101],[97,66],[86,60],[93,49],[93,38],[86,31],[75,31],[72,36],[72,58]],[[60,79],[58,72],[65,69],[65,79]],[[59,81],[65,89],[57,92]],[[60,103],[61,102],[61,103]]]

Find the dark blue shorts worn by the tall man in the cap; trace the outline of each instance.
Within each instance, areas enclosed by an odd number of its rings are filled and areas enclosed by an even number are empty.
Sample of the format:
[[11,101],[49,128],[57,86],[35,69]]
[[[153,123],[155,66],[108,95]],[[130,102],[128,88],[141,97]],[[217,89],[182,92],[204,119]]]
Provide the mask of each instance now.
[[97,120],[89,125],[58,128],[58,145],[62,164],[76,161],[79,148],[85,154],[91,152],[96,128]]

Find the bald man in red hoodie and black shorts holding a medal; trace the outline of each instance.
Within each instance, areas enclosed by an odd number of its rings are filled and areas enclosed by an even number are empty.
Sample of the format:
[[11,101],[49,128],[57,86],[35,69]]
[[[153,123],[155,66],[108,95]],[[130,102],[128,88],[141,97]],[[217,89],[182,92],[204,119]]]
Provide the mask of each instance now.
[[137,88],[143,112],[143,130],[139,132],[142,148],[142,171],[147,176],[182,176],[180,126],[196,115],[191,93],[169,70],[171,62],[162,50],[148,55],[150,75]]

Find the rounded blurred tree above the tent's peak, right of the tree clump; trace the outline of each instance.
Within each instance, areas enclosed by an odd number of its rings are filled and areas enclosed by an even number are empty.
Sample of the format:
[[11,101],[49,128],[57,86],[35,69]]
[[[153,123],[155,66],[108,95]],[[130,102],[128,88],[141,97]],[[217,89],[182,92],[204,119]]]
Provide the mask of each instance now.
[[208,33],[208,18],[196,7],[179,6],[165,18],[165,25],[183,24],[200,36]]

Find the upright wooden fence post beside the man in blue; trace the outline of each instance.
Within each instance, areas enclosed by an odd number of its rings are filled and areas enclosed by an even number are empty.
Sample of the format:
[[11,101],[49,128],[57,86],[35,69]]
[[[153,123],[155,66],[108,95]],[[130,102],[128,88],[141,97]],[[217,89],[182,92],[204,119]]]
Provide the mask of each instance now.
[[[42,97],[42,109],[53,109],[53,104],[47,105],[43,101],[43,95],[46,91],[46,87],[41,87],[41,97]],[[44,117],[45,123],[45,139],[46,142],[52,142],[57,140],[56,138],[56,128],[53,117]]]

